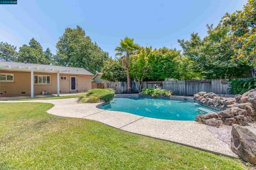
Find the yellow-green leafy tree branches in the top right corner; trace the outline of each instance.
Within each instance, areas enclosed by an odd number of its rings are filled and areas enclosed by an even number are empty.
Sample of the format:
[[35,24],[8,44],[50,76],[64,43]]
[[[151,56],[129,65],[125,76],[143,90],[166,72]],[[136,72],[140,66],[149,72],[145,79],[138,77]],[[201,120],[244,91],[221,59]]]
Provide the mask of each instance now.
[[228,39],[232,42],[234,57],[246,64],[255,64],[256,1],[247,1],[241,11],[226,13],[221,24],[230,28]]

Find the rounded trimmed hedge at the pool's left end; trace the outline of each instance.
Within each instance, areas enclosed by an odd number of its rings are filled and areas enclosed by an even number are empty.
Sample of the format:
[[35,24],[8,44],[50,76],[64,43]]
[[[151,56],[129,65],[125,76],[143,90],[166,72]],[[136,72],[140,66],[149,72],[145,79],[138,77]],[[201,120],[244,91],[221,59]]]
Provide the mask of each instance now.
[[87,94],[79,95],[78,101],[81,103],[99,103],[103,101],[108,103],[114,98],[115,90],[113,89],[92,89]]

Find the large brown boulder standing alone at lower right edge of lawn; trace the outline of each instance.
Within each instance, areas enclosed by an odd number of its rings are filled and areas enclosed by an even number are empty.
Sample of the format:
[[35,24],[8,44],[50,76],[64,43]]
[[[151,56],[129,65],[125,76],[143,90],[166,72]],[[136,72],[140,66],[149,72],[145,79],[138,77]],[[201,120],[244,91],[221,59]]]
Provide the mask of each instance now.
[[256,164],[256,134],[249,129],[232,126],[231,149],[245,162]]

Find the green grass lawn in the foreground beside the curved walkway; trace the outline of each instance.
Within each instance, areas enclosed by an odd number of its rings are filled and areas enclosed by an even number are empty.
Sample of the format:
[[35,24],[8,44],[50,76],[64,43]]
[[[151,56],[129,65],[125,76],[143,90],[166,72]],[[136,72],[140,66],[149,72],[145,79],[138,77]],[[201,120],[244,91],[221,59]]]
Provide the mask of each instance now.
[[52,104],[0,103],[0,169],[244,169],[217,156],[79,118]]

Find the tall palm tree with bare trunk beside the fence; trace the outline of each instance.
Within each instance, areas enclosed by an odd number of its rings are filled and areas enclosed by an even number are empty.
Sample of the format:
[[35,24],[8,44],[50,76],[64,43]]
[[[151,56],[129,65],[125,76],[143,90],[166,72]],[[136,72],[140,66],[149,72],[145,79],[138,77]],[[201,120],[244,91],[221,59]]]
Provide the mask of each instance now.
[[132,92],[131,77],[129,71],[130,57],[140,48],[138,44],[133,43],[133,38],[125,37],[124,40],[121,39],[120,46],[116,47],[116,56],[121,56],[122,67],[126,72],[127,77],[127,93]]

